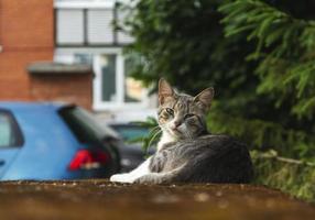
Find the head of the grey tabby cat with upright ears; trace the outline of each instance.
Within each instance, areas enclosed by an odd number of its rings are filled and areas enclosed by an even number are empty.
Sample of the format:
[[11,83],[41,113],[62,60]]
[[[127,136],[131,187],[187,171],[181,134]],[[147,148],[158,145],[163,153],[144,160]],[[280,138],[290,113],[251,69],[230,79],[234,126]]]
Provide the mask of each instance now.
[[175,140],[194,139],[205,133],[205,118],[213,97],[213,88],[193,97],[177,94],[165,79],[160,79],[158,119],[162,131]]

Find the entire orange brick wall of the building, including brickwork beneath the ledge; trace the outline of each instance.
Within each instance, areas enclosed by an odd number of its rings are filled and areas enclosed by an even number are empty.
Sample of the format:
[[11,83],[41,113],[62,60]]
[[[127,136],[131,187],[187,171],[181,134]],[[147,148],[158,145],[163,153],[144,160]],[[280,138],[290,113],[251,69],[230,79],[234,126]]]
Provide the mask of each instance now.
[[69,101],[91,108],[91,74],[36,76],[31,63],[53,61],[53,0],[0,0],[0,100]]

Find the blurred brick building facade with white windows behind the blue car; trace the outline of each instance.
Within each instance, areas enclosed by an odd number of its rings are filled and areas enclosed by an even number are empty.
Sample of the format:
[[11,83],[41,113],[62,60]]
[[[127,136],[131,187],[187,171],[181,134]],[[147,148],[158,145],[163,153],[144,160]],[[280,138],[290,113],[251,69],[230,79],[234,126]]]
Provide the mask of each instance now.
[[1,100],[76,102],[120,121],[154,112],[156,98],[129,76],[133,59],[123,47],[132,37],[112,26],[128,13],[115,0],[0,4]]

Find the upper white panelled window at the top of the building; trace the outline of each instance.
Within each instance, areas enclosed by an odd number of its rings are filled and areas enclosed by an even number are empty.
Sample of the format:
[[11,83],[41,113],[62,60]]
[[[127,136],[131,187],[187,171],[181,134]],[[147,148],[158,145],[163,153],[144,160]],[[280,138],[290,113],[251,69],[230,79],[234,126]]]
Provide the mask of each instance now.
[[66,7],[55,10],[57,46],[126,45],[133,38],[122,31],[115,30],[128,14],[113,6],[98,8]]

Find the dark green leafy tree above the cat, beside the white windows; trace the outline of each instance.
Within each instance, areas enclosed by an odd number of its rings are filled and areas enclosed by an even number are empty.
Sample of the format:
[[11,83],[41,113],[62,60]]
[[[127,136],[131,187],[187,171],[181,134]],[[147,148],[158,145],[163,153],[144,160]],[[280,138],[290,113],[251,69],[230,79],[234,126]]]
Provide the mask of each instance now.
[[[242,84],[251,84],[251,74],[246,74],[250,73],[250,66],[242,64],[248,47],[246,41],[241,37],[221,41],[219,2],[137,1],[134,15],[126,23],[135,37],[127,52],[142,57],[133,76],[145,85],[154,82],[155,86],[164,76],[172,85],[191,94],[209,85],[215,85],[217,90],[225,88],[233,78],[238,81],[221,92],[231,95]],[[243,74],[247,76],[241,79],[239,76]],[[185,80],[178,80],[178,77]]]

